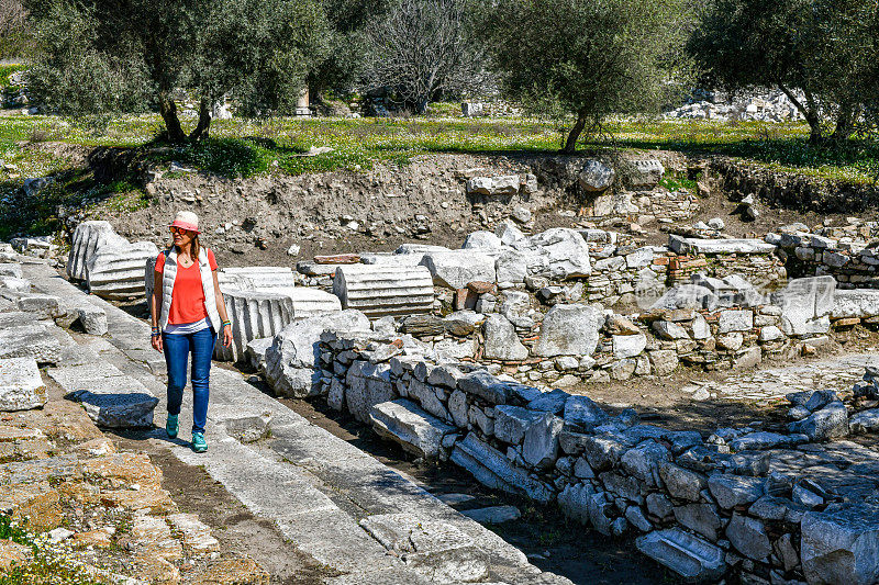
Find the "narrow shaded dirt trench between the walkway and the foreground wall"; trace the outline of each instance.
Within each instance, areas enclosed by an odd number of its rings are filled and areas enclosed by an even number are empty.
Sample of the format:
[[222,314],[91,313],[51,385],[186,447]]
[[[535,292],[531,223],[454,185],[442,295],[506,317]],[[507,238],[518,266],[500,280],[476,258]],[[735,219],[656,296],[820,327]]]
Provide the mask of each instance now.
[[[267,391],[266,387],[262,390]],[[453,494],[465,496],[455,498],[457,502],[448,502],[457,510],[515,506],[522,513],[518,520],[485,526],[519,548],[542,571],[564,575],[578,585],[678,582],[674,573],[637,552],[634,538],[605,537],[579,522],[568,520],[555,506],[541,506],[489,490],[453,463],[422,461],[398,445],[383,441],[367,425],[342,416],[324,404],[296,398],[277,400],[312,424],[412,477],[431,494],[437,497]]]

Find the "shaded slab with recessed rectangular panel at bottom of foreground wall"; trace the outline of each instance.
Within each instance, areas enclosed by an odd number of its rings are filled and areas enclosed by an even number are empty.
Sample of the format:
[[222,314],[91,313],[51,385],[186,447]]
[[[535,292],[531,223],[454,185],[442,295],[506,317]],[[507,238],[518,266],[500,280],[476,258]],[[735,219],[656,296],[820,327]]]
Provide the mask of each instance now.
[[635,542],[641,552],[690,583],[719,580],[726,571],[723,550],[679,528],[655,530]]

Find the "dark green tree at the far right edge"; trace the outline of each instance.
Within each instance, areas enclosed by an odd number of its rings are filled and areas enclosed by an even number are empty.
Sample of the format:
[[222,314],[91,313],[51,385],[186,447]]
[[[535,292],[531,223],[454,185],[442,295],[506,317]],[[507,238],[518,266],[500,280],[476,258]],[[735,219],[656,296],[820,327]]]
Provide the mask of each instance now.
[[863,113],[876,12],[861,0],[708,0],[688,48],[715,85],[777,87],[809,123],[811,142],[825,137],[826,120],[839,140]]

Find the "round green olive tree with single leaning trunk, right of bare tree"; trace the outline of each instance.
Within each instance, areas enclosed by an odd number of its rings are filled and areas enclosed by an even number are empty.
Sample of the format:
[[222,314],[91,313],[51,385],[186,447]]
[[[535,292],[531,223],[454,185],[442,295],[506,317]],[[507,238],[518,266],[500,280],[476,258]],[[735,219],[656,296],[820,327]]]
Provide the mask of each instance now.
[[689,76],[686,0],[504,0],[485,23],[504,93],[574,116],[567,153],[587,125],[658,110]]

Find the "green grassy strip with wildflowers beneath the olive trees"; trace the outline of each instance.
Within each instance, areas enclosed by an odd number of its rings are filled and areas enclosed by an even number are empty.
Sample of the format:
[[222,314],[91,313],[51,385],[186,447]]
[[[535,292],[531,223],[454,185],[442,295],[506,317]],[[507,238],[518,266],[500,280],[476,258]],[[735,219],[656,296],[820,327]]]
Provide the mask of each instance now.
[[[194,124],[193,119],[186,120]],[[51,116],[0,117],[0,158],[19,167],[22,177],[58,170],[64,161],[26,143],[65,142],[88,146],[142,146],[162,130],[156,115],[121,116],[96,132],[86,124]],[[364,169],[376,161],[405,164],[429,153],[554,151],[566,128],[521,119],[271,119],[215,121],[211,138],[196,146],[158,155],[224,176],[251,176],[278,168],[289,173],[338,168]],[[716,121],[610,121],[615,144],[633,149],[669,149],[693,154],[725,154],[780,170],[830,179],[872,183],[879,148],[852,143],[833,150],[810,147],[802,123],[725,123]],[[311,147],[332,153],[303,157]],[[607,148],[608,140],[582,148]]]

